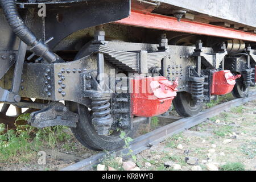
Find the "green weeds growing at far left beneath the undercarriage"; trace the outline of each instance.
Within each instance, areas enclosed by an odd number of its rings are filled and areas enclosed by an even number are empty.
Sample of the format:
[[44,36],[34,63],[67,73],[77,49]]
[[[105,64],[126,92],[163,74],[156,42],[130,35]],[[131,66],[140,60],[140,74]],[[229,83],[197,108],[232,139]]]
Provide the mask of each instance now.
[[[27,120],[29,114],[20,115],[17,119]],[[10,160],[29,162],[36,158],[40,146],[55,148],[56,144],[69,140],[71,135],[64,132],[67,127],[55,126],[36,129],[29,125],[16,125],[16,130],[7,130],[0,124],[0,163]]]

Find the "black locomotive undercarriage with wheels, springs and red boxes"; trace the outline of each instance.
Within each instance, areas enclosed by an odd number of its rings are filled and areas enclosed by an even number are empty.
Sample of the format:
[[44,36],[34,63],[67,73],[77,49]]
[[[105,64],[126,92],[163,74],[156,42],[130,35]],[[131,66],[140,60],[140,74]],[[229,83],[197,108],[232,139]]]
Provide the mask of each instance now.
[[9,128],[29,108],[30,125],[68,126],[84,146],[113,150],[123,145],[120,130],[133,135],[172,103],[189,117],[218,95],[246,97],[255,86],[256,34],[144,14],[150,2],[0,2],[0,122]]

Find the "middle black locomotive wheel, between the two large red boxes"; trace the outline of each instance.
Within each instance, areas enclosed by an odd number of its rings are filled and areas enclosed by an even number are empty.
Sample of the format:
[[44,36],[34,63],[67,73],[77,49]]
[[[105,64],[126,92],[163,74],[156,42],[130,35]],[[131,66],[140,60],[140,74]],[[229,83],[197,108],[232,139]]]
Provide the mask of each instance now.
[[173,101],[176,112],[182,117],[190,117],[200,113],[203,105],[195,105],[191,94],[188,92],[178,92]]

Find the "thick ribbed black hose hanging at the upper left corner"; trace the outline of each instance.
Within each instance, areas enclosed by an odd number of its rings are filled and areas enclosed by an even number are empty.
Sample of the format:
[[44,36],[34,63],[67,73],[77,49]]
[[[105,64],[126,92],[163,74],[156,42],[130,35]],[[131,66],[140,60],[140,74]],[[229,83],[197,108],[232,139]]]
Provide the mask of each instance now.
[[35,55],[42,57],[48,63],[63,61],[59,56],[49,50],[44,42],[36,39],[36,36],[30,31],[26,24],[24,24],[18,14],[15,0],[0,0],[0,4],[14,33],[20,40],[32,47],[31,51],[34,52]]

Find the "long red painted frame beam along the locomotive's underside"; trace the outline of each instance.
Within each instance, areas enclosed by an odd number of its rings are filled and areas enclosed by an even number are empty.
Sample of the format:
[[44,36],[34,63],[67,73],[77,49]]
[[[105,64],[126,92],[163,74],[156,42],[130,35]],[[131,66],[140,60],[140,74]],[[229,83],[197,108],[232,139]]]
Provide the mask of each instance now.
[[118,20],[118,24],[127,26],[136,26],[144,28],[153,28],[166,31],[187,32],[191,34],[201,34],[209,36],[218,36],[222,38],[247,40],[256,42],[256,34],[233,30],[231,28],[214,26],[207,23],[192,22],[189,20],[182,20],[177,22],[177,19],[170,16],[158,14],[145,14],[140,11],[131,11],[128,18]]

